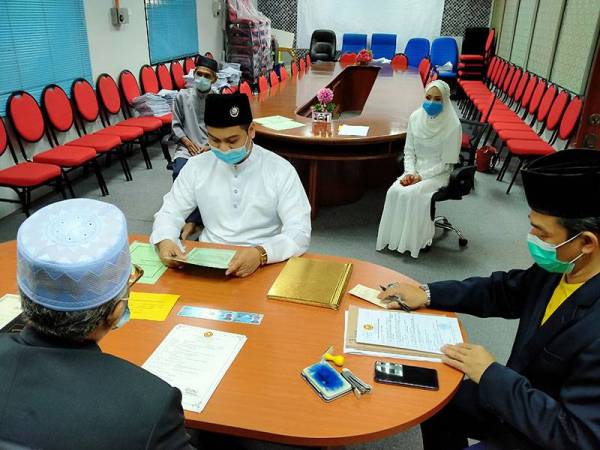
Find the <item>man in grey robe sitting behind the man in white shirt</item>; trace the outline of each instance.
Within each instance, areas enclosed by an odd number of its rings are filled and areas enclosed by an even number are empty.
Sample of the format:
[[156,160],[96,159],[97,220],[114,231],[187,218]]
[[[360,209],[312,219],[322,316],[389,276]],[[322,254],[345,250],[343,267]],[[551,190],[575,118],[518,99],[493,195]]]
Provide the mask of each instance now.
[[[193,86],[180,90],[173,100],[172,139],[177,143],[173,160],[173,179],[177,178],[191,157],[208,150],[204,103],[206,96],[213,92],[217,70],[218,64],[214,59],[198,56]],[[186,219],[181,238],[187,239],[201,224],[202,218],[196,209]]]

